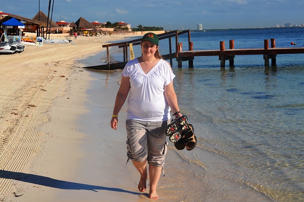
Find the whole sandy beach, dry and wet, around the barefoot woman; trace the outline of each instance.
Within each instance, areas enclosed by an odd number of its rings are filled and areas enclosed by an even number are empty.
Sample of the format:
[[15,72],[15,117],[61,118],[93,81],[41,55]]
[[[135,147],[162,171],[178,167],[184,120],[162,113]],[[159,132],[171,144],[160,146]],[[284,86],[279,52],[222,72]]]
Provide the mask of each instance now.
[[[149,200],[148,191],[137,190],[132,163],[126,165],[126,107],[118,130],[109,124],[121,70],[95,72],[77,62],[125,37],[80,36],[75,45],[26,46],[0,56],[1,201]],[[229,164],[219,154],[202,151],[204,164],[189,166],[171,143],[159,201],[272,201],[217,173]]]

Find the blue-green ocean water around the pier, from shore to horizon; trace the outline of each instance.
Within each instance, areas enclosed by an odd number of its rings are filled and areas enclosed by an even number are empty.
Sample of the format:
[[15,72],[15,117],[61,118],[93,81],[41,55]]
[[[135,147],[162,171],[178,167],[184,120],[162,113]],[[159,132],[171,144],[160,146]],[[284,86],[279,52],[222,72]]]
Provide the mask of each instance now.
[[[304,29],[191,33],[195,50],[219,49],[219,41],[227,48],[231,39],[235,48],[263,47],[271,38],[277,47],[295,47],[291,41],[303,46]],[[169,53],[167,46],[160,42],[161,54]],[[104,55],[97,54],[93,63],[104,62]],[[122,61],[122,50],[113,48],[111,60]],[[303,55],[278,55],[277,66],[267,68],[263,56],[236,56],[235,67],[226,62],[225,68],[218,57],[196,57],[194,68],[187,62],[177,68],[173,60],[172,69],[180,110],[198,138],[197,147],[179,151],[180,157],[204,165],[204,151],[219,154],[233,167],[222,164],[217,172],[274,201],[304,201]]]

